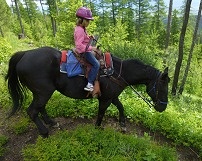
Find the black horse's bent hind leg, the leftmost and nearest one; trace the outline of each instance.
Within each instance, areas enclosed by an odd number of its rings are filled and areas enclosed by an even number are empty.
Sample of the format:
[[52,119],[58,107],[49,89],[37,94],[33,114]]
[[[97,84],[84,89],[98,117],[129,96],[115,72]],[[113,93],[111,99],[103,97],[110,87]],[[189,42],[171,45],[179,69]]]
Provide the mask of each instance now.
[[49,100],[51,95],[46,94],[46,96],[42,95],[33,95],[33,101],[27,109],[27,113],[30,116],[31,120],[36,124],[39,133],[42,137],[48,137],[48,129],[44,126],[43,122],[39,118],[39,112],[42,108],[45,107],[47,101]]

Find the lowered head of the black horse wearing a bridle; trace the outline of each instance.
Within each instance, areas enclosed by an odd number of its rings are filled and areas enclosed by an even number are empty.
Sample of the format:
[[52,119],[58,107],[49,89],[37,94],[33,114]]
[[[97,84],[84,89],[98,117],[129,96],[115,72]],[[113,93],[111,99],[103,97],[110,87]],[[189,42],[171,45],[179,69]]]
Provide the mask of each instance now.
[[163,112],[168,104],[168,68],[158,74],[154,81],[147,85],[147,93],[152,98],[156,111]]

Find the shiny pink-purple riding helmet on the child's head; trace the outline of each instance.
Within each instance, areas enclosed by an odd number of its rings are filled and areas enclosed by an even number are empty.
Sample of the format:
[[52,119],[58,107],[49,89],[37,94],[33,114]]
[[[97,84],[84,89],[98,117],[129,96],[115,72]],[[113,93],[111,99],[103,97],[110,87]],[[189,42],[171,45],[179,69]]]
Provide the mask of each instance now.
[[81,17],[87,20],[94,20],[92,17],[92,12],[90,9],[86,8],[86,7],[80,7],[77,11],[76,11],[76,16],[77,17]]

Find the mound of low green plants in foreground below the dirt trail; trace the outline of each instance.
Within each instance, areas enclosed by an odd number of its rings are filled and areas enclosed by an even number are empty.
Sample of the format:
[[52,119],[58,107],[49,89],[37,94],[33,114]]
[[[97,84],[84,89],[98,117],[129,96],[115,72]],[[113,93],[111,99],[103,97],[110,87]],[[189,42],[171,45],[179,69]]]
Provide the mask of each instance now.
[[38,138],[23,150],[24,160],[170,160],[177,159],[174,149],[159,146],[148,138],[123,135],[112,129],[93,126],[61,131],[48,139]]

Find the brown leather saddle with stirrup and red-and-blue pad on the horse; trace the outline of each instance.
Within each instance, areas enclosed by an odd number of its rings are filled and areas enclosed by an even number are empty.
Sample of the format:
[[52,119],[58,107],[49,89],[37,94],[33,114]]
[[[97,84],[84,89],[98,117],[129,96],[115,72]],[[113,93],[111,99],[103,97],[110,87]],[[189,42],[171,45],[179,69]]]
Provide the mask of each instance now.
[[[113,61],[109,52],[102,53],[101,50],[93,52],[94,56],[100,63],[100,70],[98,76],[94,82],[94,91],[91,93],[94,98],[101,95],[99,77],[109,76],[114,72]],[[88,78],[88,74],[92,68],[92,65],[79,54],[76,49],[63,50],[60,62],[60,72],[67,73],[68,77],[73,76],[85,76]],[[87,97],[90,93],[88,93]]]

